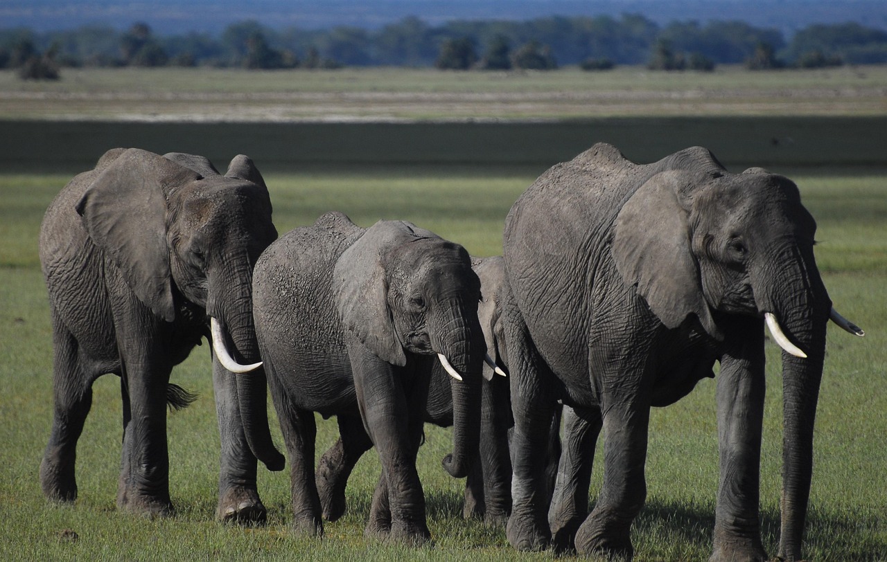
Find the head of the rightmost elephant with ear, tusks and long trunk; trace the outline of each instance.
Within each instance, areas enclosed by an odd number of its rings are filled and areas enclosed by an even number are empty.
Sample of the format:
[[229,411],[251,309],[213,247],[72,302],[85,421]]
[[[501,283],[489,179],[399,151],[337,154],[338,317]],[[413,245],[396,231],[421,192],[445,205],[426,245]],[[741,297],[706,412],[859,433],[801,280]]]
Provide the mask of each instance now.
[[627,200],[612,241],[616,268],[669,328],[695,317],[723,340],[728,315],[754,316],[765,319],[783,348],[781,556],[796,559],[826,324],[831,316],[862,332],[831,306],[813,258],[816,223],[795,183],[761,168],[729,174],[700,148],[673,160],[703,166],[663,166]]

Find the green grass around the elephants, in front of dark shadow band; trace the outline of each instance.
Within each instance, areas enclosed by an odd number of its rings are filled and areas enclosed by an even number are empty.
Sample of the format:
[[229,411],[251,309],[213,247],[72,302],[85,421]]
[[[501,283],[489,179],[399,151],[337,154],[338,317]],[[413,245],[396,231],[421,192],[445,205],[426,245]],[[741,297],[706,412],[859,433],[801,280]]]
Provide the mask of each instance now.
[[[224,163],[217,163],[224,165]],[[420,477],[435,545],[411,550],[365,541],[379,464],[365,455],[349,482],[350,511],[326,525],[323,541],[290,535],[287,472],[260,469],[267,527],[214,521],[218,435],[208,366],[201,347],[173,373],[200,399],[169,416],[170,480],[177,515],[147,520],[114,507],[120,465],[120,389],[98,379],[78,448],[80,497],[73,506],[46,503],[37,468],[51,424],[51,330],[37,260],[43,209],[71,173],[0,174],[0,558],[27,560],[311,559],[537,560],[521,554],[501,530],[461,519],[461,480],[440,467],[450,433],[428,428]],[[368,226],[404,218],[467,246],[501,252],[508,208],[541,170],[487,168],[316,168],[265,171],[281,233],[341,210]],[[860,324],[864,339],[829,329],[828,358],[815,441],[806,558],[887,558],[887,169],[773,170],[795,179],[819,223],[817,260],[836,306]],[[768,344],[761,508],[765,547],[779,535],[781,378],[778,349]],[[718,444],[713,380],[681,402],[654,410],[648,456],[648,503],[633,539],[637,560],[699,560],[710,553]],[[282,441],[276,420],[272,429]],[[318,425],[318,454],[335,438],[333,420]],[[601,456],[599,455],[600,459]],[[592,499],[600,486],[600,463]],[[67,537],[74,531],[76,541]]]

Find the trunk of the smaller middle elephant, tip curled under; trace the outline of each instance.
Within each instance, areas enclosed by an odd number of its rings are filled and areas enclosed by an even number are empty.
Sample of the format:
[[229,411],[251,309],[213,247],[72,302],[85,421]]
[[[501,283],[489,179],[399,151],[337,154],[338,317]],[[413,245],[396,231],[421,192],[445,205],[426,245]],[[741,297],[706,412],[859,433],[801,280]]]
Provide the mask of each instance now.
[[480,447],[481,380],[483,342],[481,324],[475,308],[448,307],[452,313],[432,331],[431,346],[445,356],[461,380],[450,379],[452,391],[453,450],[443,458],[443,468],[454,478],[465,478]]

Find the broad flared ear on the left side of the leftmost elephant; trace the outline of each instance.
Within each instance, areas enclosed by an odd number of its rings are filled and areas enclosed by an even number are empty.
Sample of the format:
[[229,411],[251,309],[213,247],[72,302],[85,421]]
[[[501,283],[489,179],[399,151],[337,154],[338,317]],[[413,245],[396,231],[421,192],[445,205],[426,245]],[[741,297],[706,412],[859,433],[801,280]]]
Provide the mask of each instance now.
[[75,207],[92,241],[120,268],[132,292],[167,322],[176,311],[165,188],[198,178],[159,154],[130,148],[96,176]]

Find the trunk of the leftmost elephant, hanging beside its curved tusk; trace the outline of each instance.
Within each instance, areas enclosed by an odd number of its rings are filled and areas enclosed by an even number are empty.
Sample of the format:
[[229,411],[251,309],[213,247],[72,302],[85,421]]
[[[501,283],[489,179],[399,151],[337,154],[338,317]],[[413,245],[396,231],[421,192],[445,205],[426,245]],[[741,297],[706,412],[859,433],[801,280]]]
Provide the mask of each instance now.
[[[255,338],[253,321],[253,300],[248,293],[252,276],[249,276],[249,281],[250,283],[245,285],[247,293],[229,289],[220,294],[213,292],[210,287],[210,298],[207,303],[208,314],[223,324],[220,330],[223,332],[220,334],[222,339],[230,339],[233,344],[228,347],[232,359],[241,365],[259,363],[259,344]],[[224,295],[224,301],[219,298],[214,299],[214,295],[217,297]],[[226,365],[225,368],[229,369]],[[248,372],[238,372],[234,376],[240,423],[243,425],[249,449],[268,467],[268,470],[283,470],[284,456],[274,447],[274,442],[271,440],[271,428],[268,423],[268,383],[264,370],[255,368]]]

